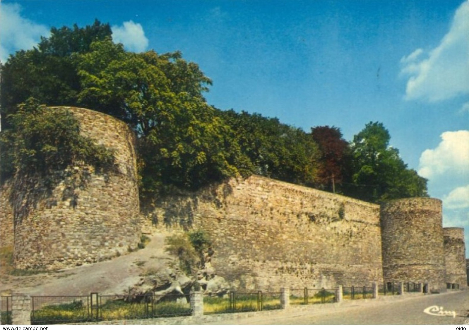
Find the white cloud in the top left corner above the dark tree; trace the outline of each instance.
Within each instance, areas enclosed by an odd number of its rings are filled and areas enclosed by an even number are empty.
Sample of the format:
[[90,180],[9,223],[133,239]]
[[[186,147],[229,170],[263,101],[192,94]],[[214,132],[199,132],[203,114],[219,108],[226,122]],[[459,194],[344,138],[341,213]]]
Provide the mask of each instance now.
[[21,6],[0,4],[0,60],[5,63],[9,54],[37,45],[40,37],[48,37],[49,29],[21,16]]

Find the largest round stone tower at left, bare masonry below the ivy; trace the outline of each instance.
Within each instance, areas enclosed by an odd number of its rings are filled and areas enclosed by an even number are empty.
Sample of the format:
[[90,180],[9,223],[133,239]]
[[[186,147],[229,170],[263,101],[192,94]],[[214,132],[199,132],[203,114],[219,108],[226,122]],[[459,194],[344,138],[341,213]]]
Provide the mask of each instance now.
[[[55,180],[15,176],[14,264],[18,269],[51,270],[98,262],[127,254],[140,241],[133,132],[103,113],[60,108],[79,120],[81,135],[114,151],[116,169],[97,173],[90,165],[73,166],[57,172]],[[53,187],[45,189],[44,181],[53,182]]]

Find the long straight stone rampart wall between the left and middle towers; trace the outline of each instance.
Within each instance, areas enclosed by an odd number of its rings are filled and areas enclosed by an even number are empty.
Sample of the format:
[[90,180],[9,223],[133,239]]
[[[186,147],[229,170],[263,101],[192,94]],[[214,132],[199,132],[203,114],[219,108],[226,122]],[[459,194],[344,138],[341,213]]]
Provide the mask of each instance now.
[[202,228],[232,286],[330,288],[382,281],[379,206],[264,177],[168,198],[153,222]]

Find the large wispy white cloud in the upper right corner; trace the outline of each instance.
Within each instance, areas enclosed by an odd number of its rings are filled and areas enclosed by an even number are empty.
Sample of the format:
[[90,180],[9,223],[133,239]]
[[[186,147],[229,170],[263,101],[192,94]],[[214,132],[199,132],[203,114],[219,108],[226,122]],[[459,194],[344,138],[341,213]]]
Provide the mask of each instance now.
[[468,31],[469,1],[464,1],[440,45],[422,60],[417,60],[424,53],[420,48],[401,59],[401,75],[410,76],[406,99],[435,102],[469,93]]

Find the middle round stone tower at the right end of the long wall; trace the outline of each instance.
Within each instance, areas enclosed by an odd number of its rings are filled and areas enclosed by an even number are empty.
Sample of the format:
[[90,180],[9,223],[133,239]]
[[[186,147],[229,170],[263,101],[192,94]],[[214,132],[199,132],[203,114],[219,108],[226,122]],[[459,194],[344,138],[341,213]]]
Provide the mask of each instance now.
[[380,218],[384,281],[428,283],[444,291],[441,200],[393,200],[381,206]]

